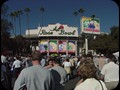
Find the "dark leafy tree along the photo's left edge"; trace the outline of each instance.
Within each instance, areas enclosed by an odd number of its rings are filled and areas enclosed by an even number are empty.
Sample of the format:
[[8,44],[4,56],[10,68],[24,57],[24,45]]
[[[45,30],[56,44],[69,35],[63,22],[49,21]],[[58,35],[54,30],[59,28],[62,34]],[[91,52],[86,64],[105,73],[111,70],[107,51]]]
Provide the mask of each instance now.
[[4,48],[8,49],[10,41],[10,31],[12,29],[12,23],[7,20],[8,16],[8,6],[6,4],[2,5],[1,8],[1,51]]

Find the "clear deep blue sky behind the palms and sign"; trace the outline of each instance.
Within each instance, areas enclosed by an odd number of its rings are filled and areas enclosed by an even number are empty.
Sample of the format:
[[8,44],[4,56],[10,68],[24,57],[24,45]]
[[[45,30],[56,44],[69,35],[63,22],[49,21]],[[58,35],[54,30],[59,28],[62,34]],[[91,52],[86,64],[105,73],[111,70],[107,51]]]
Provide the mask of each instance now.
[[[80,15],[73,16],[73,12],[84,8],[83,16],[95,15],[100,19],[101,32],[110,32],[112,26],[119,26],[119,7],[112,0],[8,0],[5,2],[9,6],[8,13],[16,10],[30,8],[30,29],[37,29],[41,22],[40,7],[45,8],[44,26],[48,24],[67,24],[68,26],[79,26]],[[27,29],[26,15],[21,15],[22,34]],[[9,17],[9,20],[10,17]],[[77,24],[76,24],[77,23]],[[19,34],[17,21],[17,34]]]

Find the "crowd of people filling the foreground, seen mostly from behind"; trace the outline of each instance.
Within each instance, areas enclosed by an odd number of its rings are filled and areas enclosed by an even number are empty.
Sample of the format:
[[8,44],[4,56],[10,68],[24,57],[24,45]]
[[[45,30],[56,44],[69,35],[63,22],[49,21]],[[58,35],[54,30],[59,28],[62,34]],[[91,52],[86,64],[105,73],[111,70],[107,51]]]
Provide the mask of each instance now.
[[[1,54],[1,83],[8,90],[65,90],[80,77],[73,90],[113,90],[119,83],[119,60],[113,54],[46,57]],[[14,81],[13,78],[15,79]]]

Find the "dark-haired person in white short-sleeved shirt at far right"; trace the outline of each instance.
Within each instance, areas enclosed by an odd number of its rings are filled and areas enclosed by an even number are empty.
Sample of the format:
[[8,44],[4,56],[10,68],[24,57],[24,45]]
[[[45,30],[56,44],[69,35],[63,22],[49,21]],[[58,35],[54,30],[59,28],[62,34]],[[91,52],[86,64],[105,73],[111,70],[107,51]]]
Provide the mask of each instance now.
[[119,83],[119,66],[114,63],[114,55],[109,55],[108,58],[109,63],[103,66],[100,79],[104,79],[108,90],[112,90]]

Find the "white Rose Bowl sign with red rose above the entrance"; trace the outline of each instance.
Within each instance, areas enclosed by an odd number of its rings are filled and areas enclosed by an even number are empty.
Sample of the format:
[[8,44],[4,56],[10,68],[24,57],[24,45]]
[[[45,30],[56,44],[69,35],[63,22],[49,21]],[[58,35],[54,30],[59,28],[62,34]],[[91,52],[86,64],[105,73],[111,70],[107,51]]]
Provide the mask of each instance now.
[[68,27],[62,24],[50,24],[47,27],[38,27],[38,36],[70,36],[78,37],[78,29],[76,27]]

